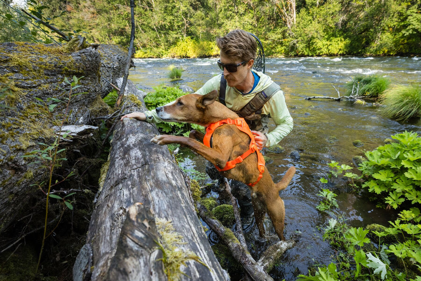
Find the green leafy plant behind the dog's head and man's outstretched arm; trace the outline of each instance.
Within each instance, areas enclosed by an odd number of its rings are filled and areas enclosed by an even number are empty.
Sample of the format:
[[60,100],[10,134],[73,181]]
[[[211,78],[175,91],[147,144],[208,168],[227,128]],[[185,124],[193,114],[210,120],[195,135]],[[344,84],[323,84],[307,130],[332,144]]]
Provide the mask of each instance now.
[[[181,89],[177,87],[166,87],[157,86],[153,87],[155,92],[149,93],[145,98],[145,106],[149,109],[155,109],[157,107],[166,105],[167,103],[176,100],[177,98],[185,95]],[[176,123],[176,122],[161,122],[157,124],[158,129],[161,132],[165,132],[172,135],[184,135],[188,136],[190,130],[201,130],[203,131],[203,126],[197,124],[188,124],[188,123]]]

